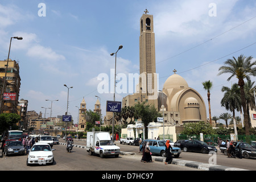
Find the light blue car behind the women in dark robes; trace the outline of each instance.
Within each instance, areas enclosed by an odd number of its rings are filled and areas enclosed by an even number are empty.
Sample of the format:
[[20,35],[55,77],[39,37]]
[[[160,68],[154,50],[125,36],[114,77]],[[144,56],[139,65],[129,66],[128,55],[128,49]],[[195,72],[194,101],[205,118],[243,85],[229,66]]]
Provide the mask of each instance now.
[[[150,152],[154,155],[160,155],[163,157],[166,157],[166,142],[164,140],[151,140],[151,139],[147,139],[144,140],[146,142],[149,142],[149,146],[150,146]],[[140,149],[142,147],[142,144],[140,145]],[[179,147],[172,147],[172,155],[174,155],[175,158],[179,158],[181,154],[181,150]]]

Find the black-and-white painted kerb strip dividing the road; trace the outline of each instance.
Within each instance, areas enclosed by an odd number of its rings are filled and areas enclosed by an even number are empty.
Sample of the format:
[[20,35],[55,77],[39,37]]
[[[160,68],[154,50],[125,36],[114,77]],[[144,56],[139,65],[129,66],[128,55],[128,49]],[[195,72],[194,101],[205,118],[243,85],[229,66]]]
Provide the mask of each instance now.
[[[76,142],[77,144],[74,144],[74,147],[79,147],[79,148],[85,148],[86,150],[86,146],[85,144],[83,144],[82,141],[80,140],[74,140],[74,142]],[[64,142],[60,142],[60,144],[64,144],[67,145],[67,143]],[[141,153],[140,153],[141,154]],[[135,152],[120,152],[120,155],[124,155],[124,156],[132,156],[133,158],[135,158],[136,160],[138,159],[138,161],[141,160],[141,155],[137,155]],[[166,160],[166,158],[161,157],[161,156],[152,156],[152,159],[155,162],[162,162],[164,163],[164,161]],[[241,169],[241,168],[234,168],[234,167],[228,167],[228,166],[220,166],[220,165],[215,165],[215,164],[207,164],[207,163],[199,163],[199,162],[193,162],[191,160],[181,160],[181,159],[173,159],[172,160],[172,164],[175,165],[179,165],[179,166],[185,166],[185,167],[191,167],[191,168],[197,168],[197,169],[201,169],[204,171],[249,171],[247,169]]]

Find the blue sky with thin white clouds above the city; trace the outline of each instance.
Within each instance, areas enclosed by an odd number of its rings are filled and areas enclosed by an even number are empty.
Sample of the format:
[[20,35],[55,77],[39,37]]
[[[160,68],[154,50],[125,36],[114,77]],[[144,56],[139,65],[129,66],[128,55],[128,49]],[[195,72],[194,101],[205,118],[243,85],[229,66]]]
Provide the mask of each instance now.
[[[237,83],[229,74],[218,75],[227,59],[240,55],[256,57],[256,2],[253,0],[1,0],[0,60],[19,63],[19,100],[28,100],[28,110],[50,110],[52,117],[65,115],[69,88],[68,114],[77,123],[78,107],[85,99],[93,110],[100,97],[102,115],[106,101],[113,100],[113,71],[117,53],[117,75],[139,73],[139,25],[145,10],[154,16],[156,73],[159,89],[176,69],[188,86],[204,98],[202,82],[210,80],[212,116],[230,113],[221,107],[222,86]],[[117,83],[121,78],[117,77]],[[255,81],[255,77],[251,77]],[[129,87],[129,80],[122,86]],[[99,85],[109,92],[102,93]],[[125,87],[124,87],[125,88]],[[135,86],[134,86],[135,88]],[[116,101],[131,94],[115,94]],[[231,114],[231,113],[230,113]]]

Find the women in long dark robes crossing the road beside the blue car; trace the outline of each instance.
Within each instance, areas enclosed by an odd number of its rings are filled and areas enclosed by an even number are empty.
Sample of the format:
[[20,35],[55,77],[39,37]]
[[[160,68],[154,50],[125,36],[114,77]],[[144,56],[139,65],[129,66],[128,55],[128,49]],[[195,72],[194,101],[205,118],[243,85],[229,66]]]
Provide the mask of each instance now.
[[[139,144],[142,143],[142,140],[139,141]],[[170,140],[167,140],[166,141],[166,160],[164,162],[164,164],[171,164],[172,163],[172,153],[171,153],[171,150],[172,150],[172,146],[170,144]],[[151,152],[150,152],[150,143],[149,142],[146,142],[144,141],[142,143],[142,147],[139,149],[139,152],[141,152],[142,150],[142,158],[141,158],[141,162],[144,162],[144,163],[148,163],[148,162],[154,162],[154,160],[152,160],[152,156],[151,156]]]

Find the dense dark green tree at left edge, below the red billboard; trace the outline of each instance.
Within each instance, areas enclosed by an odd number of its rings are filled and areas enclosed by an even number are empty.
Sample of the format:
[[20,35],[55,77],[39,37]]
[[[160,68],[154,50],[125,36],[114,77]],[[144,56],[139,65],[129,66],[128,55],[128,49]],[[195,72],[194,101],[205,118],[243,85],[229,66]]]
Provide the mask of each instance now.
[[0,133],[9,130],[10,127],[14,128],[16,123],[20,121],[20,115],[14,113],[0,114]]

